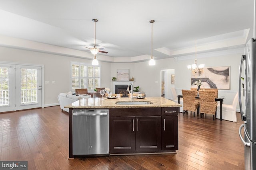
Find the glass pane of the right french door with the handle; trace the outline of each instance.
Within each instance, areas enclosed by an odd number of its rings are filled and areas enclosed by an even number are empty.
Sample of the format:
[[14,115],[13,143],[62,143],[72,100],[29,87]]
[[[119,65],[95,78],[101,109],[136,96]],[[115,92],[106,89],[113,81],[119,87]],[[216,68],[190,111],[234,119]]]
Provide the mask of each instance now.
[[38,103],[37,70],[20,68],[20,104]]

